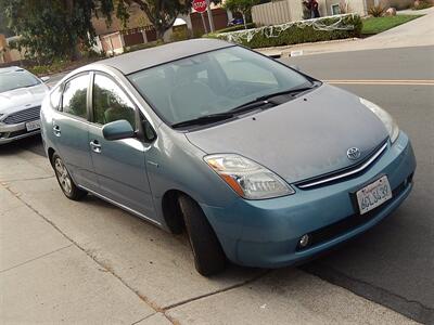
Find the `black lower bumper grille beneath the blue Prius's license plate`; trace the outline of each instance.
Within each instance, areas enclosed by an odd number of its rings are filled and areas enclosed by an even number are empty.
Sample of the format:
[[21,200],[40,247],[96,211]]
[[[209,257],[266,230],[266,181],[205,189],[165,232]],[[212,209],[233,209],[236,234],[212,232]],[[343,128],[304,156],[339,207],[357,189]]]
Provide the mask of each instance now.
[[379,212],[381,212],[388,205],[391,205],[394,202],[394,199],[400,193],[403,193],[404,190],[406,190],[406,187],[411,182],[411,180],[412,180],[412,174],[410,177],[408,177],[408,179],[406,181],[400,183],[395,190],[392,191],[392,199],[384,203],[382,206],[380,206],[365,214],[360,214],[360,213],[352,214],[352,216],[349,216],[345,219],[342,219],[335,223],[329,224],[324,227],[321,227],[311,233],[308,233],[309,238],[310,238],[309,245],[307,247],[297,246],[296,250],[297,251],[306,250],[306,249],[317,246],[319,244],[329,242],[335,237],[339,237],[345,233],[348,233],[348,232],[355,230],[356,227],[359,227],[359,226],[368,223],[369,221],[374,219],[379,214]]

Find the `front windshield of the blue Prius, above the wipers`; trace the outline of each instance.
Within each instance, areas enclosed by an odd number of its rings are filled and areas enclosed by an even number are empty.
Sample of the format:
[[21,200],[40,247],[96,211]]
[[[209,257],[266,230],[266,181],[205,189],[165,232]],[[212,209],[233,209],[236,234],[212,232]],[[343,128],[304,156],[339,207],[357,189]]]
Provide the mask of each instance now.
[[312,86],[303,75],[241,47],[169,62],[128,78],[170,126]]

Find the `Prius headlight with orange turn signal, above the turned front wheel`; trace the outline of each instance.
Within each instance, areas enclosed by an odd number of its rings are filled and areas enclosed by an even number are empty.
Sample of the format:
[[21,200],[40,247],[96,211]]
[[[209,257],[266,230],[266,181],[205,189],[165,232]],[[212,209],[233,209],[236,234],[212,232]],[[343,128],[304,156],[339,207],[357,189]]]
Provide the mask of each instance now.
[[294,194],[294,190],[265,167],[234,154],[206,156],[210,168],[240,196],[264,199]]

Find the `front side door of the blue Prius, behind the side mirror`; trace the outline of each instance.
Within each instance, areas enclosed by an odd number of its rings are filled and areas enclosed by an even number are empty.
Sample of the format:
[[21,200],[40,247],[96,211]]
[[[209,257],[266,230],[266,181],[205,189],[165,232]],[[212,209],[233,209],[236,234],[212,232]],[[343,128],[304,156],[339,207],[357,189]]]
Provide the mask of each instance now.
[[93,76],[91,102],[89,140],[99,193],[135,212],[153,218],[154,204],[145,166],[149,144],[138,138],[108,141],[102,133],[104,125],[120,119],[138,130],[137,107],[110,76],[100,73]]

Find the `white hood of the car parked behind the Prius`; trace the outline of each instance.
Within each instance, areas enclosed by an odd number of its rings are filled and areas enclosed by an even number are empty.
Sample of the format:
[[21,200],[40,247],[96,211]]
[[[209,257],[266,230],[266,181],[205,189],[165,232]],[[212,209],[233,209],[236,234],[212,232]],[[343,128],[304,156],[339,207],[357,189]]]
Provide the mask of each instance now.
[[26,107],[38,106],[49,89],[44,83],[18,88],[0,93],[0,114],[10,114]]

